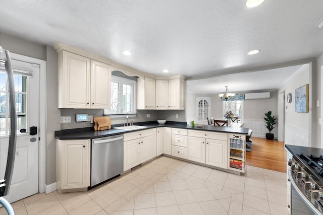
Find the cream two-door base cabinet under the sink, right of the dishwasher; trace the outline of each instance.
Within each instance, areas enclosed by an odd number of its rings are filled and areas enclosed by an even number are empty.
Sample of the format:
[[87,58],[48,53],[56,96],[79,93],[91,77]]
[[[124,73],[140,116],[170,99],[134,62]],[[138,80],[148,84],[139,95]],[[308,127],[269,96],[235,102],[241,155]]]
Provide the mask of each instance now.
[[123,171],[156,157],[156,128],[125,133],[124,140]]

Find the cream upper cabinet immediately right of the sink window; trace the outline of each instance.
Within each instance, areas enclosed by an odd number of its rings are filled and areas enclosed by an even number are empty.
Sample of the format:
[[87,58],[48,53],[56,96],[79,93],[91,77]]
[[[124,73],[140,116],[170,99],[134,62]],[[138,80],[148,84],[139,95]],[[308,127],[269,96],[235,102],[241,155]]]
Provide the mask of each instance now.
[[154,110],[156,100],[156,82],[154,79],[145,77],[144,80],[137,78],[137,109]]

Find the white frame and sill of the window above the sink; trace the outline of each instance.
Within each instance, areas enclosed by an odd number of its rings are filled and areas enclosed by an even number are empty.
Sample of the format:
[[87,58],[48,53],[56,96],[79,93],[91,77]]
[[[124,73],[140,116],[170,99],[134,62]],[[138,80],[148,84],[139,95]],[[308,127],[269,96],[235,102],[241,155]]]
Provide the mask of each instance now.
[[[131,105],[131,109],[133,111],[128,112],[128,113],[122,113],[122,112],[112,113],[112,112],[109,111],[109,109],[105,108],[104,111],[103,111],[103,114],[104,115],[111,115],[111,116],[114,116],[114,115],[118,116],[118,115],[125,115],[125,114],[136,114],[137,113],[137,81],[134,81],[134,80],[131,80],[131,79],[125,79],[125,78],[118,77],[118,76],[111,76],[111,82],[118,82],[119,83],[119,100],[120,100],[120,98],[122,98],[122,94],[123,94],[122,85],[123,84],[131,85],[131,88],[133,89],[132,97],[131,97],[133,102],[132,102],[132,105]],[[121,99],[121,102],[120,102],[120,106],[122,107],[122,99]]]

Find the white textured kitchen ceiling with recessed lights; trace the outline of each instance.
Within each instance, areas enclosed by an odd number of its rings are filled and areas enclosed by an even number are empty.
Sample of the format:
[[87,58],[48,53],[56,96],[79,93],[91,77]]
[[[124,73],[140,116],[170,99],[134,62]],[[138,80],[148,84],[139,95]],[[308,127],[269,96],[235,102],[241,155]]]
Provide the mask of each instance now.
[[[217,76],[323,52],[322,0],[1,0],[0,31],[165,76]],[[246,53],[259,49],[256,55]],[[131,50],[133,55],[121,52]]]

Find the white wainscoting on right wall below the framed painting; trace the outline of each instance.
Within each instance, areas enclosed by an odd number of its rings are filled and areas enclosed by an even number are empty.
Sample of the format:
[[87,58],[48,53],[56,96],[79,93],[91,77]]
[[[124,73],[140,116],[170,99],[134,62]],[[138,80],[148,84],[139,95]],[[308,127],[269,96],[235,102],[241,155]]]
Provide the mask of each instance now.
[[310,147],[308,141],[308,130],[300,129],[285,123],[285,144]]

